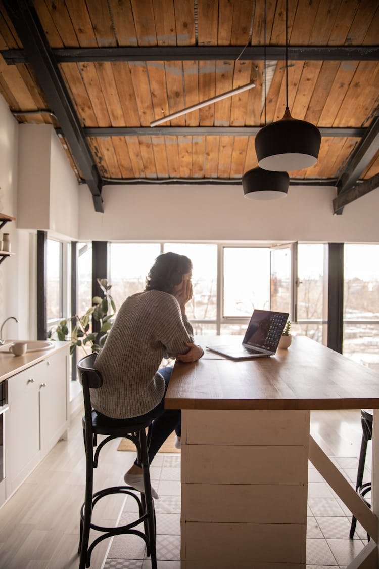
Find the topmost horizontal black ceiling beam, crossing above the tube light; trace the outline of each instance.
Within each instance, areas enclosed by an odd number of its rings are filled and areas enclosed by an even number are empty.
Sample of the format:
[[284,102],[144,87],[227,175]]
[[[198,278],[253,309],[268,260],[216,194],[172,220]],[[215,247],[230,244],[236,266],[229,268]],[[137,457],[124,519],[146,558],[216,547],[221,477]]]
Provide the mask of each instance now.
[[[243,53],[241,54],[241,51]],[[264,46],[82,47],[52,50],[57,63],[80,61],[186,61],[264,59]],[[26,50],[1,50],[8,64],[27,63]],[[241,55],[240,55],[241,54]],[[285,46],[267,46],[268,60],[285,60]],[[290,61],[377,61],[379,46],[288,46]]]

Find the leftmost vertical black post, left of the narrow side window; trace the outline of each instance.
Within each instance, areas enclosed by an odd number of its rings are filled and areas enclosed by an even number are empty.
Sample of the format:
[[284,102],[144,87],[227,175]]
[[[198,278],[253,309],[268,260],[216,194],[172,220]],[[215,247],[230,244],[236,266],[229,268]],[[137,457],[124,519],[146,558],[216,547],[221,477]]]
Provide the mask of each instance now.
[[37,340],[47,339],[47,231],[37,232]]

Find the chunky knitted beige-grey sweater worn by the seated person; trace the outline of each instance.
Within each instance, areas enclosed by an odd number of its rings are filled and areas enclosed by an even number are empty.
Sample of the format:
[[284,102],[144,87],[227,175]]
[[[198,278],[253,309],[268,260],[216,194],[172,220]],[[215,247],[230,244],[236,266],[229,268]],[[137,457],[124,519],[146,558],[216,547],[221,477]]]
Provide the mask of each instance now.
[[153,409],[165,389],[161,361],[188,352],[186,342],[193,329],[174,296],[150,290],[127,298],[95,361],[103,385],[91,389],[94,409],[118,419]]

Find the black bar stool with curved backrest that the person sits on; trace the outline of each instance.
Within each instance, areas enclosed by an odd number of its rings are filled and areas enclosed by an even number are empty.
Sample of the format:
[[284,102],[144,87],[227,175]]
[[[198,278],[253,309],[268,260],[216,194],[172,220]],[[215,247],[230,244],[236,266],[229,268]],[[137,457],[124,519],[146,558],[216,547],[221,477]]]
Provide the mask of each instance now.
[[[127,427],[112,427],[110,426],[109,422],[106,423],[104,420],[98,417],[97,413],[95,413],[95,411],[92,409],[90,398],[90,389],[98,389],[103,383],[101,373],[94,368],[95,358],[96,354],[92,353],[89,356],[82,358],[77,364],[77,368],[80,372],[80,383],[83,387],[84,396],[85,414],[82,419],[82,426],[86,452],[85,500],[80,512],[80,542],[78,550],[78,553],[80,554],[79,569],[84,569],[84,567],[90,566],[91,552],[99,542],[113,535],[120,534],[139,535],[142,539],[144,539],[147,555],[151,556],[152,569],[157,569],[155,549],[155,511],[151,495],[148,442],[145,435],[145,429],[151,426],[151,421],[131,424]],[[106,435],[106,438],[103,439],[98,445],[97,435]],[[132,486],[113,486],[111,488],[104,488],[98,492],[93,493],[93,469],[97,468],[99,452],[107,442],[120,437],[130,439],[136,446],[137,455],[142,467],[142,476],[145,488],[145,493],[141,493],[140,498],[135,493],[135,490],[132,488]],[[95,453],[94,447],[97,447]],[[134,492],[131,490],[134,490]],[[95,504],[97,504],[101,498],[104,496],[109,496],[110,494],[128,494],[132,496],[138,502],[139,517],[131,523],[127,523],[126,525],[118,527],[99,526],[93,523],[91,521],[91,518],[92,510]],[[140,523],[143,523],[144,531],[135,529],[135,527]],[[99,535],[99,537],[95,538],[91,545],[88,546],[91,529],[101,531],[102,535]]]

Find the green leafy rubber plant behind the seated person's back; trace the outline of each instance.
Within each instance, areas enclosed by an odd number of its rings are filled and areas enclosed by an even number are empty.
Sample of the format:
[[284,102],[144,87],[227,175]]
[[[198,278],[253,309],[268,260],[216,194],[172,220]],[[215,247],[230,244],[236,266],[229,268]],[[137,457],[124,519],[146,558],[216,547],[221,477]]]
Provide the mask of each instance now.
[[[73,354],[77,347],[82,347],[86,353],[86,347],[91,348],[91,352],[99,352],[103,347],[107,335],[113,325],[113,317],[116,307],[112,296],[110,295],[111,284],[107,283],[107,279],[97,279],[103,296],[94,296],[92,299],[93,306],[83,316],[77,314],[72,316],[74,327],[69,336],[67,320],[61,320],[60,323],[48,331],[48,337],[54,340],[56,335],[58,340],[70,341],[70,354]],[[100,323],[99,332],[90,332],[90,318]]]

